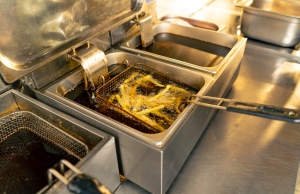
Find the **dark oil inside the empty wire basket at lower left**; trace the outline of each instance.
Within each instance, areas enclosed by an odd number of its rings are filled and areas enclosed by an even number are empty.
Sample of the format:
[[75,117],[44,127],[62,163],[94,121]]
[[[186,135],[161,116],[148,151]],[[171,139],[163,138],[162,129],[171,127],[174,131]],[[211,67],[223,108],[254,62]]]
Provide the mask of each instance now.
[[48,184],[47,170],[61,159],[78,162],[25,129],[0,144],[0,157],[0,193],[36,193]]

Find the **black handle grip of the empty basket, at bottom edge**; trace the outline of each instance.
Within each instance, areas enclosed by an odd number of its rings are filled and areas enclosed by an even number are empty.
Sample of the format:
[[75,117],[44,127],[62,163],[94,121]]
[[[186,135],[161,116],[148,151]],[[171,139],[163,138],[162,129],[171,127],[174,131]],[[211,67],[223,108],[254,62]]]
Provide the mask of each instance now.
[[111,194],[97,179],[85,174],[75,176],[68,184],[68,189],[76,194]]

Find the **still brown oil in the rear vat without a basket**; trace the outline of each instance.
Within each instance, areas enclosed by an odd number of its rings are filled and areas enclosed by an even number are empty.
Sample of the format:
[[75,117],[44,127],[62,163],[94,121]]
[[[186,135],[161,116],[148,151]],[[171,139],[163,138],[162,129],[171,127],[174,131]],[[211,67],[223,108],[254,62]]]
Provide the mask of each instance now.
[[137,49],[201,67],[218,65],[230,51],[227,47],[167,33],[157,34],[151,45],[147,48],[140,45]]

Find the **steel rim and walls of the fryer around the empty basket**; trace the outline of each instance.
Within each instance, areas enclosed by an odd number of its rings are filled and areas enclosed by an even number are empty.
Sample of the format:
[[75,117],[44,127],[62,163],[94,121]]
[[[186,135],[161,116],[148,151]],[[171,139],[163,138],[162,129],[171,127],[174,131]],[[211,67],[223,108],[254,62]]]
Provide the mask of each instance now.
[[[14,90],[1,94],[0,99],[0,117],[22,112],[34,114],[83,142],[89,152],[76,167],[97,178],[111,191],[118,187],[120,179],[114,137]],[[73,177],[74,173],[69,172],[66,176]],[[55,183],[51,188],[45,185],[42,190],[47,193],[67,191],[62,182]]]

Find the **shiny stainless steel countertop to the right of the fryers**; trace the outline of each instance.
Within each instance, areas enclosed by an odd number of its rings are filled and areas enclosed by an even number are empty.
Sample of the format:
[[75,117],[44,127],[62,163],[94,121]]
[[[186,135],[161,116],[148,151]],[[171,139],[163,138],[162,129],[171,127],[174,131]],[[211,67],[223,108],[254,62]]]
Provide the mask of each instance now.
[[[248,40],[227,98],[300,109],[300,58],[292,51]],[[167,193],[294,193],[299,156],[300,124],[218,111]],[[123,181],[115,193],[148,192]]]

